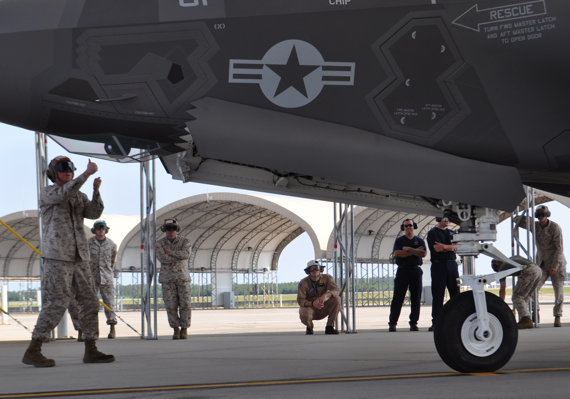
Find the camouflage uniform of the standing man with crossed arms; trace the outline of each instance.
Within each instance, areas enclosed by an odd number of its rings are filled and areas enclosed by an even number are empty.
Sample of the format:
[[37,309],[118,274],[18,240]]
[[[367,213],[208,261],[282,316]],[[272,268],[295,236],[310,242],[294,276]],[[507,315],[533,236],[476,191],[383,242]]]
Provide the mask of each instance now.
[[[160,261],[158,282],[162,284],[162,300],[172,328],[188,328],[192,320],[192,279],[188,271],[191,246],[190,239],[177,235],[174,242],[170,243],[164,237],[154,247],[156,258]],[[170,251],[170,255],[166,251]]]

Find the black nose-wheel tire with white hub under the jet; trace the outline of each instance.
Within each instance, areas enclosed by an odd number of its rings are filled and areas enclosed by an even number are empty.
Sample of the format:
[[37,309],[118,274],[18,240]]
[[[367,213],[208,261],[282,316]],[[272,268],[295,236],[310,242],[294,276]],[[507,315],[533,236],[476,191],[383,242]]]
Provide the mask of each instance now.
[[[519,339],[515,316],[498,296],[485,292],[485,298],[487,312],[493,323],[491,331],[494,337],[487,343],[475,340],[474,333],[470,333],[477,324],[477,317],[473,317],[475,313],[473,291],[461,292],[447,301],[435,320],[433,339],[437,353],[445,364],[462,373],[493,372],[507,364],[515,353]],[[500,339],[501,333],[502,339]],[[467,340],[465,343],[464,339]],[[477,345],[482,345],[480,352]],[[481,354],[477,355],[474,352]],[[491,355],[486,355],[488,352],[491,352]]]

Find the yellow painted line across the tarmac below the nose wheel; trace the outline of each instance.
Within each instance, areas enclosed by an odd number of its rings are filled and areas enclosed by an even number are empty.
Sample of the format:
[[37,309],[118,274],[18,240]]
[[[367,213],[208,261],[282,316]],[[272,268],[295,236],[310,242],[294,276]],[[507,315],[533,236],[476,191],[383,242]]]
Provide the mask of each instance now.
[[275,381],[252,381],[252,382],[228,382],[224,384],[200,384],[200,385],[173,385],[173,386],[144,386],[139,388],[116,388],[116,389],[84,389],[84,390],[68,390],[53,392],[36,392],[36,393],[16,393],[16,394],[0,394],[0,399],[13,398],[39,398],[50,396],[80,396],[93,394],[109,394],[109,393],[128,393],[128,392],[150,392],[165,390],[182,390],[182,389],[214,389],[214,388],[238,388],[241,386],[266,386],[266,385],[294,385],[294,384],[310,384],[323,382],[355,382],[355,381],[378,381],[378,380],[398,380],[402,378],[425,378],[425,377],[451,377],[451,376],[495,376],[499,374],[518,374],[529,372],[547,372],[570,370],[570,367],[547,367],[535,369],[516,369],[516,370],[499,370],[494,373],[423,373],[423,374],[400,374],[390,376],[368,376],[368,377],[340,377],[340,378],[311,378],[307,380],[275,380]]

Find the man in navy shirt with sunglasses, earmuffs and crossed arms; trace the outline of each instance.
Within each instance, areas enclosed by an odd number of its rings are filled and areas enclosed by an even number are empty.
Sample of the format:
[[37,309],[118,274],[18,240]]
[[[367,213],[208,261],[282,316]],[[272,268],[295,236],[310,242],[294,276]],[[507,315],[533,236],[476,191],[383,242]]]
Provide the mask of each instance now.
[[396,238],[394,242],[394,257],[397,258],[398,270],[394,278],[394,296],[390,304],[390,321],[388,331],[396,331],[398,317],[402,311],[402,304],[406,298],[408,287],[410,289],[410,331],[418,331],[420,318],[420,300],[422,296],[422,258],[426,256],[426,245],[423,239],[414,235],[418,225],[412,219],[406,219],[400,226],[405,235]]

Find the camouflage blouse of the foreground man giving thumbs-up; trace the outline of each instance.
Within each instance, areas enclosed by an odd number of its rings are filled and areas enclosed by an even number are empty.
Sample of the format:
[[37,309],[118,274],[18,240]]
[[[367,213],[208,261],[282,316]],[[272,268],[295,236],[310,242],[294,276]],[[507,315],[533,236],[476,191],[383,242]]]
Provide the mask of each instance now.
[[95,194],[89,201],[86,194],[79,191],[86,180],[82,173],[63,187],[54,184],[40,192],[44,258],[73,262],[77,251],[81,259],[89,260],[83,218],[99,218],[103,201]]

